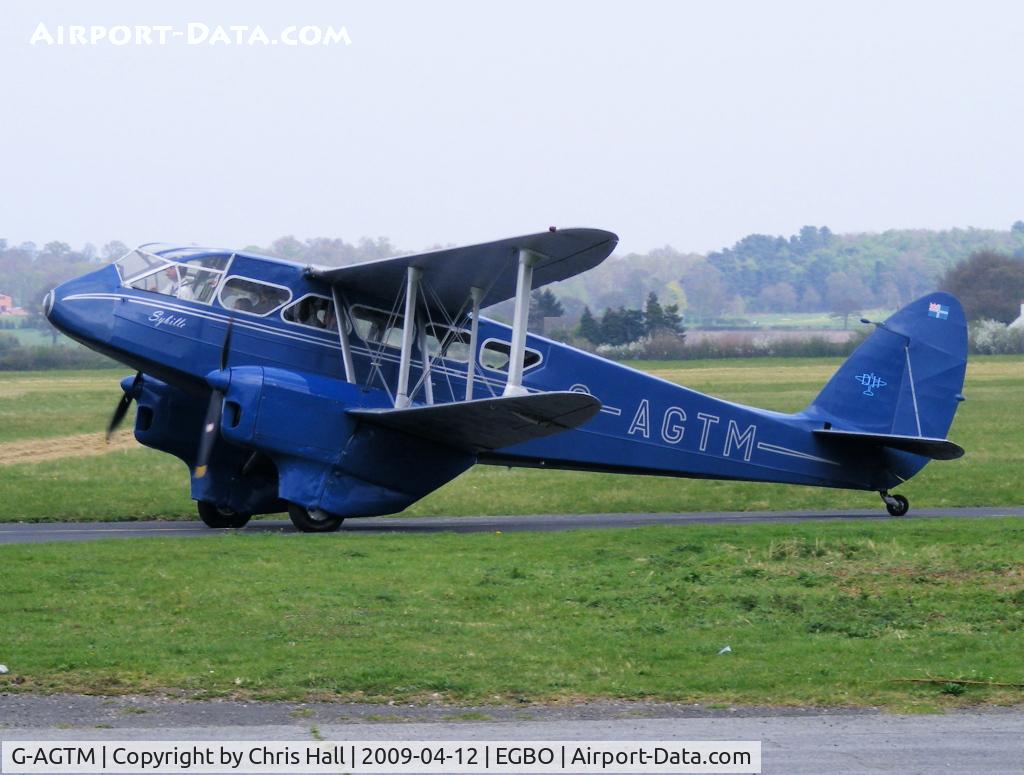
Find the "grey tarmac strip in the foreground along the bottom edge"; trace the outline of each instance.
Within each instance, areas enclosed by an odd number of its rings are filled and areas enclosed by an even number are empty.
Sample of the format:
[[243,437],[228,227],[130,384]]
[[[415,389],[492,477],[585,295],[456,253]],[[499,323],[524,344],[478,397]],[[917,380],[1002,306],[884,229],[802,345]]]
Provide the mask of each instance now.
[[453,707],[0,695],[14,740],[760,740],[765,773],[1020,773],[1024,711],[709,708],[657,702]]

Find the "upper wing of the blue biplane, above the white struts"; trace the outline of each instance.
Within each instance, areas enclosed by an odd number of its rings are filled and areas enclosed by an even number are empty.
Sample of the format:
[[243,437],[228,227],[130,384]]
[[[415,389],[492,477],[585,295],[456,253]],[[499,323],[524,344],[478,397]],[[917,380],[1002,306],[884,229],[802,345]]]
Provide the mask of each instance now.
[[610,231],[567,228],[514,236],[464,248],[446,248],[397,258],[368,261],[338,268],[311,267],[309,273],[362,297],[390,301],[406,284],[406,269],[422,269],[427,289],[424,302],[439,305],[454,317],[469,298],[469,289],[485,291],[481,307],[515,296],[518,252],[528,250],[540,260],[534,265],[534,288],[587,271],[607,258],[618,243]]

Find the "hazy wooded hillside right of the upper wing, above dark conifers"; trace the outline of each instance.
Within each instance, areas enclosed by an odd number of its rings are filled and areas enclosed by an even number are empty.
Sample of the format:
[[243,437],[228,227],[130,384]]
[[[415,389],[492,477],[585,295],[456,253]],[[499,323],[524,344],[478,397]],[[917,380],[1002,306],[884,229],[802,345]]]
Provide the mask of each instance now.
[[554,291],[569,314],[584,305],[636,307],[653,291],[678,304],[691,327],[732,325],[752,312],[830,312],[848,320],[935,290],[945,271],[981,251],[1024,256],[1024,221],[1001,231],[854,234],[809,225],[790,236],[749,234],[707,256],[666,247],[612,258]]

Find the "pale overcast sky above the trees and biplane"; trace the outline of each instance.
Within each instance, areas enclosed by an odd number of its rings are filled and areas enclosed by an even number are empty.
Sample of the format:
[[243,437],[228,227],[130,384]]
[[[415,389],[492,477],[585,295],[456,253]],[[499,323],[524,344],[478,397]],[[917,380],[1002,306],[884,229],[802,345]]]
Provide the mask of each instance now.
[[[344,26],[59,46],[44,23]],[[1024,218],[1021,3],[0,4],[0,236],[623,251]]]

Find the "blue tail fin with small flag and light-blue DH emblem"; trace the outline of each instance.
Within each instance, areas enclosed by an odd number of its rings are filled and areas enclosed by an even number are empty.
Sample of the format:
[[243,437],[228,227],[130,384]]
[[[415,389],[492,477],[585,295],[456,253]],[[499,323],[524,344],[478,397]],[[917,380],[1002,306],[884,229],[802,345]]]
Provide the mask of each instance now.
[[840,430],[944,439],[966,370],[964,308],[932,293],[879,324],[804,414]]

